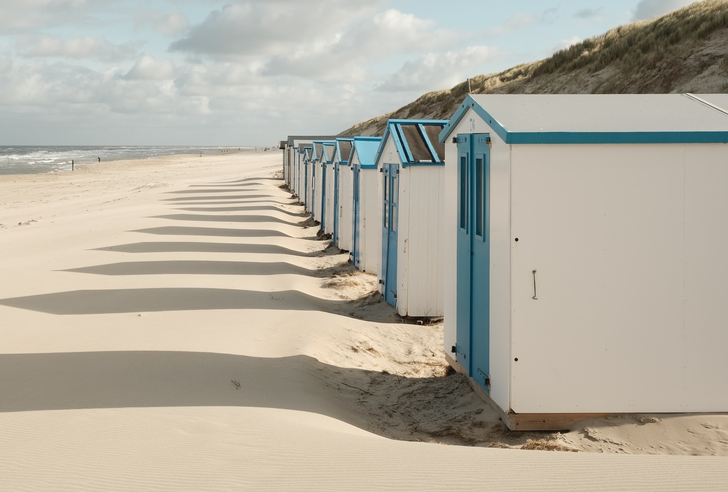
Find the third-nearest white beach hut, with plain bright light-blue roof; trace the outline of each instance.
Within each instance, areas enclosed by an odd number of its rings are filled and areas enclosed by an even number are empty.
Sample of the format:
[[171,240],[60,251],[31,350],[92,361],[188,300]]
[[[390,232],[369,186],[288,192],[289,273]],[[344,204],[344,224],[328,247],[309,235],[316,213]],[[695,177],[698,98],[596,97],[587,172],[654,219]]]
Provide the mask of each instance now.
[[354,266],[364,272],[379,274],[381,261],[381,203],[376,151],[381,137],[357,136],[349,159],[353,179],[352,253]]

